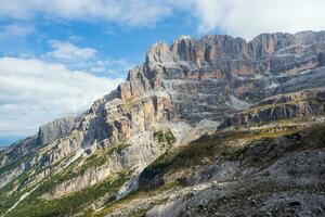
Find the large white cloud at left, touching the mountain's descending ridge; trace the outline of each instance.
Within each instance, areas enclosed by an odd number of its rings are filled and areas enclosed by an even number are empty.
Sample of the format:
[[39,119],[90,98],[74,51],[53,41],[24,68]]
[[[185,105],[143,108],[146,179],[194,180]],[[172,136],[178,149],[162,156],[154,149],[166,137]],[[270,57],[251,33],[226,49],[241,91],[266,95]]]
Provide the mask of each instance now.
[[1,58],[0,136],[34,133],[41,124],[78,114],[121,81],[35,59]]

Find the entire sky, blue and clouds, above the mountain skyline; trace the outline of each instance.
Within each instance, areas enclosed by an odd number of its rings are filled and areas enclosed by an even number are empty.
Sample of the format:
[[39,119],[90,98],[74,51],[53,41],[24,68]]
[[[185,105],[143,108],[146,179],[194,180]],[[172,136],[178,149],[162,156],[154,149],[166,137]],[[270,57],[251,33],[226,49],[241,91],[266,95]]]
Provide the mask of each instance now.
[[324,9],[324,0],[0,0],[0,145],[82,113],[156,41],[325,30]]

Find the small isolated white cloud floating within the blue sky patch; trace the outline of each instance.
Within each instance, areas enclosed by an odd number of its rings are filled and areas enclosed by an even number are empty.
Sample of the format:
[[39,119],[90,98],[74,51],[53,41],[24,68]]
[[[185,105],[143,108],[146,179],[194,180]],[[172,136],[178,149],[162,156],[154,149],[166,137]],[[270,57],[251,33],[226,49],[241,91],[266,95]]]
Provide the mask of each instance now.
[[53,51],[47,55],[62,61],[87,61],[94,59],[98,51],[92,48],[79,48],[66,41],[51,40]]

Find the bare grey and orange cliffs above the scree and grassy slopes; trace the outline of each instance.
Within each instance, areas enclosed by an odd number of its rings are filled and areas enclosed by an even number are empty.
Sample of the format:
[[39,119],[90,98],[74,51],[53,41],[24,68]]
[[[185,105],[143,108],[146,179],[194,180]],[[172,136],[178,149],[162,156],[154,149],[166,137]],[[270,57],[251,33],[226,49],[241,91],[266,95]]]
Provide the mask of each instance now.
[[34,158],[46,165],[80,149],[128,142],[161,123],[222,122],[272,94],[322,87],[324,48],[322,31],[262,34],[249,42],[230,36],[158,42],[117,90],[78,118],[41,127],[23,146],[49,144]]

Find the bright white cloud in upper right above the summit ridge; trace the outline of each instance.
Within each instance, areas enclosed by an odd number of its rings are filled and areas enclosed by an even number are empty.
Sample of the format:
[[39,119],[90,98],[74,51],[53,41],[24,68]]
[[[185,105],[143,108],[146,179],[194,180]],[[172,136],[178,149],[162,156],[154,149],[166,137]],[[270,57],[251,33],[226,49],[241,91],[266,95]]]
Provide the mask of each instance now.
[[325,29],[324,0],[194,0],[199,30],[247,39],[261,33]]

